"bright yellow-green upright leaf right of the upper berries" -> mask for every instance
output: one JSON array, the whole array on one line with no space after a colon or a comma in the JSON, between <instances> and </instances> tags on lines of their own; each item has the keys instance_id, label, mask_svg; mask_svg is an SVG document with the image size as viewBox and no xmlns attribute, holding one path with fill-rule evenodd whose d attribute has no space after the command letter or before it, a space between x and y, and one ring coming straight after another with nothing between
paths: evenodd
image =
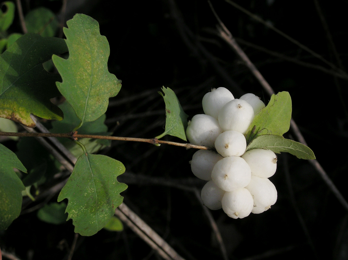
<instances>
[{"instance_id":1,"label":"bright yellow-green upright leaf right of the upper berries","mask_svg":"<svg viewBox=\"0 0 348 260\"><path fill-rule=\"evenodd\" d=\"M255 115L250 124L246 134L247 142L264 134L283 136L290 128L291 110L289 92L273 94L268 105Z\"/></svg>"}]
</instances>

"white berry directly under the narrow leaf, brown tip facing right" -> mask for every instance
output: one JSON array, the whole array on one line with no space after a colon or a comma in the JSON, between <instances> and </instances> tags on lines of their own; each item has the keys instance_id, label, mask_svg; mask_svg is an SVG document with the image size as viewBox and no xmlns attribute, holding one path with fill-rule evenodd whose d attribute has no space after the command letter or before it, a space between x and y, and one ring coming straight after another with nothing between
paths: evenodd
<instances>
[{"instance_id":1,"label":"white berry directly under the narrow leaf, brown tip facing right","mask_svg":"<svg viewBox=\"0 0 348 260\"><path fill-rule=\"evenodd\" d=\"M277 156L271 150L249 150L242 155L242 158L250 166L252 175L269 178L276 172Z\"/></svg>"}]
</instances>

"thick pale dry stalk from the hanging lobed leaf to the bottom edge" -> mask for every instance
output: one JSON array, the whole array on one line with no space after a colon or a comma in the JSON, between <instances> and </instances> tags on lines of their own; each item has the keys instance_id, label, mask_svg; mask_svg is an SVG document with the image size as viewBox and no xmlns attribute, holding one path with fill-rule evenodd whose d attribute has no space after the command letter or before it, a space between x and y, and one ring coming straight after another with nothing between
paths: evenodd
<instances>
[{"instance_id":1,"label":"thick pale dry stalk from the hanging lobed leaf to the bottom edge","mask_svg":"<svg viewBox=\"0 0 348 260\"><path fill-rule=\"evenodd\" d=\"M115 215L124 221L136 234L147 242L161 257L167 260L184 260L166 241L163 240L139 216L122 203L115 210Z\"/></svg>"}]
</instances>

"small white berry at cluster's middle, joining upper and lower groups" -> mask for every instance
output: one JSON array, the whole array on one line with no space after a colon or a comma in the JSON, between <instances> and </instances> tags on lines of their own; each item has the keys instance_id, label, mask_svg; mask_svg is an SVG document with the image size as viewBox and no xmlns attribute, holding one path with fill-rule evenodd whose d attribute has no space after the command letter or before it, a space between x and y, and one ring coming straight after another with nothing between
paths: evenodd
<instances>
[{"instance_id":1,"label":"small white berry at cluster's middle, joining upper and lower groups","mask_svg":"<svg viewBox=\"0 0 348 260\"><path fill-rule=\"evenodd\" d=\"M215 149L223 157L241 156L246 149L245 136L237 131L228 130L216 137Z\"/></svg>"}]
</instances>

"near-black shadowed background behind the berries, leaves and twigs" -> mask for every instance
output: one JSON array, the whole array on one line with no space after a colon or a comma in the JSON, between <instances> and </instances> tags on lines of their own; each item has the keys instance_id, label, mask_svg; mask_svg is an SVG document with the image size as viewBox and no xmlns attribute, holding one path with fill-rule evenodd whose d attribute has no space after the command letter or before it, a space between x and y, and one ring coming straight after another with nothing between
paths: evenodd
<instances>
[{"instance_id":1,"label":"near-black shadowed background behind the berries, leaves and twigs","mask_svg":"<svg viewBox=\"0 0 348 260\"><path fill-rule=\"evenodd\" d=\"M337 67L347 62L347 1L236 1L248 11L306 45ZM277 93L288 91L293 119L329 177L347 194L347 79L298 64L331 68L225 1L212 1L222 22ZM23 1L60 15L61 1ZM73 7L73 5L75 5ZM163 132L165 107L157 91L170 87L189 119L202 114L201 100L211 88L226 87L235 98L269 95L235 52L217 35L217 20L207 1L68 1L67 19L84 13L100 24L110 44L109 71L122 80L110 99L106 124L116 136L152 138ZM319 18L325 18L339 60ZM18 21L18 17L15 18ZM19 23L10 28L20 31ZM276 56L273 53L276 53ZM294 59L297 63L280 56ZM118 123L119 124L118 124ZM284 135L296 140L290 130ZM165 136L164 140L179 139ZM298 140L296 140L298 141ZM189 160L195 150L133 142L113 142L101 153L126 167L118 180L128 184L124 202L187 259L223 259L205 211L197 199L204 181ZM229 259L347 259L347 210L314 167L282 153L271 181L278 191L272 208L244 219L210 211ZM55 196L51 201L56 201ZM74 233L71 220L54 226L36 212L21 215L0 246L21 259L66 259ZM101 230L79 237L73 259L159 259L132 230Z\"/></svg>"}]
</instances>

